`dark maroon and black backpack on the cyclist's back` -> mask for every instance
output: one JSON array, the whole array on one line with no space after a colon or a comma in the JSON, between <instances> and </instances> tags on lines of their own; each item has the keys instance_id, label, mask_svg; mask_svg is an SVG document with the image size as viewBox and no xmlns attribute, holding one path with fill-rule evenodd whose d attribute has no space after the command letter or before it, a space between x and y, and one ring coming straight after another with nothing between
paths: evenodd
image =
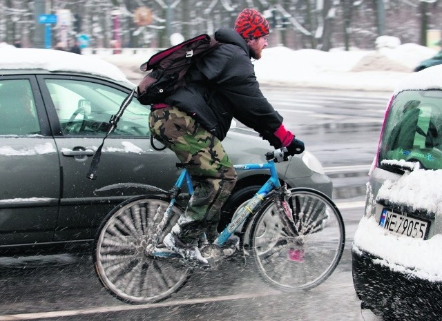
<instances>
[{"instance_id":1,"label":"dark maroon and black backpack on the cyclist's back","mask_svg":"<svg viewBox=\"0 0 442 321\"><path fill-rule=\"evenodd\" d=\"M209 35L199 35L169 49L157 52L140 66L152 70L137 86L137 99L143 105L157 104L186 85L184 75L189 68L220 43Z\"/></svg>"}]
</instances>

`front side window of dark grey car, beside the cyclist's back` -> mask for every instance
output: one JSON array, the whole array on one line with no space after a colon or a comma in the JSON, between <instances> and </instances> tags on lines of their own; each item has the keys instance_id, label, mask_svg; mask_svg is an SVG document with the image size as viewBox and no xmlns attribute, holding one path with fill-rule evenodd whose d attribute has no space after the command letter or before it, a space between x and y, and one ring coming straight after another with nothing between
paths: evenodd
<instances>
[{"instance_id":1,"label":"front side window of dark grey car, beside the cyclist's back","mask_svg":"<svg viewBox=\"0 0 442 321\"><path fill-rule=\"evenodd\" d=\"M64 135L104 135L127 94L90 81L46 79ZM149 109L133 99L111 135L149 135Z\"/></svg>"}]
</instances>

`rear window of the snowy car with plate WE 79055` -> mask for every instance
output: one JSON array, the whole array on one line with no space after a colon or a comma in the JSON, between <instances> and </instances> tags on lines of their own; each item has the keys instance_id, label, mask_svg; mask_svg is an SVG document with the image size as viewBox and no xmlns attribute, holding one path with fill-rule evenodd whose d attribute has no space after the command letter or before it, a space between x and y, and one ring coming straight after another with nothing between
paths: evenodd
<instances>
[{"instance_id":1,"label":"rear window of the snowy car with plate WE 79055","mask_svg":"<svg viewBox=\"0 0 442 321\"><path fill-rule=\"evenodd\" d=\"M404 160L419 162L426 169L441 169L441 131L442 90L399 93L385 121L378 166L383 168L383 160Z\"/></svg>"}]
</instances>

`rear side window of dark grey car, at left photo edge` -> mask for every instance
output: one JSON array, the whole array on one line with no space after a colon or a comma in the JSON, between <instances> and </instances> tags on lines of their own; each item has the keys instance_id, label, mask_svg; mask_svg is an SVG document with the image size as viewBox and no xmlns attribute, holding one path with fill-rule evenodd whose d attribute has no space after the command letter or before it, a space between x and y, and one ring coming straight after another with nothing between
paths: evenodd
<instances>
[{"instance_id":1,"label":"rear side window of dark grey car, at left photo edge","mask_svg":"<svg viewBox=\"0 0 442 321\"><path fill-rule=\"evenodd\" d=\"M0 135L41 133L30 82L0 80Z\"/></svg>"}]
</instances>

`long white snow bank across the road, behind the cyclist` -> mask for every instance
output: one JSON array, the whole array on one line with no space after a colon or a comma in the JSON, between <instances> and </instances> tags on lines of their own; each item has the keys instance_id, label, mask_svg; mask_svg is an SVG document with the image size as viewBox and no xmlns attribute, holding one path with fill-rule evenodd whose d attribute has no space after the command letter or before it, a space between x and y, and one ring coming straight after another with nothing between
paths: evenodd
<instances>
[{"instance_id":1,"label":"long white snow bank across the road, behind the cyclist","mask_svg":"<svg viewBox=\"0 0 442 321\"><path fill-rule=\"evenodd\" d=\"M390 39L387 40L387 43L392 43ZM92 50L84 50L85 55L75 55L59 50L26 49L35 50L32 59L29 59L29 55L25 57L21 49L13 46L0 46L0 50L0 68L6 64L15 64L17 68L86 71L115 80L124 81L127 78L135 84L145 75L140 70L140 65L157 52L157 49L126 48L124 53L117 55L93 55ZM334 48L329 52L313 49L291 50L277 46L263 50L262 59L253 61L253 64L261 84L393 91L412 73L420 61L435 54L436 50L414 43L383 45L377 50L352 48L345 51L343 48ZM50 64L43 64L42 59L39 59L41 55L53 55Z\"/></svg>"}]
</instances>

